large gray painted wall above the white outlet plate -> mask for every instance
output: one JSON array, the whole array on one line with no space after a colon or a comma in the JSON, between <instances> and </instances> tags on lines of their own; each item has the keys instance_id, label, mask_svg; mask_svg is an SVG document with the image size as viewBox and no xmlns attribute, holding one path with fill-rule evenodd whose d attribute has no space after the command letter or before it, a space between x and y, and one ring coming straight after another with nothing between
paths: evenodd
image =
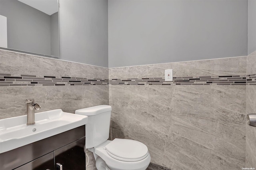
<instances>
[{"instance_id":1,"label":"large gray painted wall above the white outlet plate","mask_svg":"<svg viewBox=\"0 0 256 170\"><path fill-rule=\"evenodd\" d=\"M247 55L245 0L109 0L109 67Z\"/></svg>"}]
</instances>

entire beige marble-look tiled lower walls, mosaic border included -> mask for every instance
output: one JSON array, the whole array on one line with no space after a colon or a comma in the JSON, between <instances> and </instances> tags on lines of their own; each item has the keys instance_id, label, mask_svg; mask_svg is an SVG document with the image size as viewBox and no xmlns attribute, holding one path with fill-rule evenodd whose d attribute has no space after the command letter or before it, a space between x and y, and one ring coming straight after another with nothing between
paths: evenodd
<instances>
[{"instance_id":1,"label":"entire beige marble-look tiled lower walls, mosaic border included","mask_svg":"<svg viewBox=\"0 0 256 170\"><path fill-rule=\"evenodd\" d=\"M25 115L27 98L40 112L109 104L110 139L143 142L151 165L256 167L256 130L245 125L256 113L255 54L108 69L0 50L0 119ZM164 82L164 69L173 69L173 82Z\"/></svg>"}]
</instances>

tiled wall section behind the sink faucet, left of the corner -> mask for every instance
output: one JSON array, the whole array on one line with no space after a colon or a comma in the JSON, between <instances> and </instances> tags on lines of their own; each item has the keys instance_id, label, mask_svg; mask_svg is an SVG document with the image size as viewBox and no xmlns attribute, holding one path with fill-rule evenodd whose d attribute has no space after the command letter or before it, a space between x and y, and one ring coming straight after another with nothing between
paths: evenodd
<instances>
[{"instance_id":1,"label":"tiled wall section behind the sink faucet, left of the corner","mask_svg":"<svg viewBox=\"0 0 256 170\"><path fill-rule=\"evenodd\" d=\"M37 112L108 105L108 68L0 50L0 119L26 114L28 98Z\"/></svg>"}]
</instances>

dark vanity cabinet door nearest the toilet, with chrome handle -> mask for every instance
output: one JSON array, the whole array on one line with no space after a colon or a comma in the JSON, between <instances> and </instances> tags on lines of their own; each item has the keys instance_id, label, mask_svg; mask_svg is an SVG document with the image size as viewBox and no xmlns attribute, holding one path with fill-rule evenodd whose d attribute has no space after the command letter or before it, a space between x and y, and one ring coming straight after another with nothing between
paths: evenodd
<instances>
[{"instance_id":1,"label":"dark vanity cabinet door nearest the toilet, with chrome handle","mask_svg":"<svg viewBox=\"0 0 256 170\"><path fill-rule=\"evenodd\" d=\"M55 169L60 169L58 163L62 170L85 170L84 146L85 137L55 150Z\"/></svg>"}]
</instances>

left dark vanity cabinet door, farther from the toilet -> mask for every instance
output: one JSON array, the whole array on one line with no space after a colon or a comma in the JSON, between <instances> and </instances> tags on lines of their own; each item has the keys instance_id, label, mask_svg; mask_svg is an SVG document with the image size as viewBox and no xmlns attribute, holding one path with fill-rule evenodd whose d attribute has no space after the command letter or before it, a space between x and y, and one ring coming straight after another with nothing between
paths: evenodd
<instances>
[{"instance_id":1,"label":"left dark vanity cabinet door, farther from the toilet","mask_svg":"<svg viewBox=\"0 0 256 170\"><path fill-rule=\"evenodd\" d=\"M54 152L28 162L15 170L54 170Z\"/></svg>"}]
</instances>

